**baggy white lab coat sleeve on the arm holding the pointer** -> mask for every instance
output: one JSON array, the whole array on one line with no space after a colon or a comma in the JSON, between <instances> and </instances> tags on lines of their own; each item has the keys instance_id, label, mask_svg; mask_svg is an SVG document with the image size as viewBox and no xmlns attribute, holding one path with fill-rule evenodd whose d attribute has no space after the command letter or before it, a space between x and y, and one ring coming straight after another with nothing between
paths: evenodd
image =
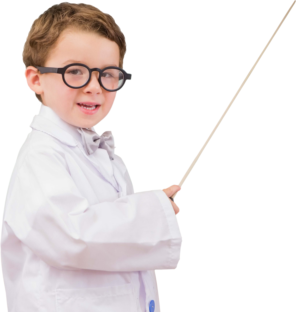
<instances>
[{"instance_id":1,"label":"baggy white lab coat sleeve on the arm holding the pointer","mask_svg":"<svg viewBox=\"0 0 296 312\"><path fill-rule=\"evenodd\" d=\"M182 234L161 189L89 205L66 154L30 149L10 186L4 222L50 266L63 270L175 270Z\"/></svg>"}]
</instances>

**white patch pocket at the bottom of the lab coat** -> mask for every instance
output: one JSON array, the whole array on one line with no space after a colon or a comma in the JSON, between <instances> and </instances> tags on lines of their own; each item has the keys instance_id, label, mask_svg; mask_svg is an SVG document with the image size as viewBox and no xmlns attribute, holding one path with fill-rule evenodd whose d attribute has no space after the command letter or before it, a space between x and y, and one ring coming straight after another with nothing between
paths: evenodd
<instances>
[{"instance_id":1,"label":"white patch pocket at the bottom of the lab coat","mask_svg":"<svg viewBox=\"0 0 296 312\"><path fill-rule=\"evenodd\" d=\"M137 312L132 284L56 289L57 312Z\"/></svg>"}]
</instances>

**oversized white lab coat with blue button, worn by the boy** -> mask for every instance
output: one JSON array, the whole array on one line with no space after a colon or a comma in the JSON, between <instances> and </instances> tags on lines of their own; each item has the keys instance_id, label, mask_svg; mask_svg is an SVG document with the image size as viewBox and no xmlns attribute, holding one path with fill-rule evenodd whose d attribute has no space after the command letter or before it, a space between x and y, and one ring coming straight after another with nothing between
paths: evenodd
<instances>
[{"instance_id":1,"label":"oversized white lab coat with blue button, worn by the boy","mask_svg":"<svg viewBox=\"0 0 296 312\"><path fill-rule=\"evenodd\" d=\"M160 312L154 270L175 270L182 247L167 195L135 193L123 159L88 156L50 107L29 127L2 213L7 311Z\"/></svg>"}]
</instances>

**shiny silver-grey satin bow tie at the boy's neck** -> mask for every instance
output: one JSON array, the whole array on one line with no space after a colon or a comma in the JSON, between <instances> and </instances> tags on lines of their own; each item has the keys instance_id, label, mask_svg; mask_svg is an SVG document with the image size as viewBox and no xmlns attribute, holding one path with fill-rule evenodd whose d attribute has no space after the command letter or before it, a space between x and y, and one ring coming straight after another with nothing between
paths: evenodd
<instances>
[{"instance_id":1,"label":"shiny silver-grey satin bow tie at the boy's neck","mask_svg":"<svg viewBox=\"0 0 296 312\"><path fill-rule=\"evenodd\" d=\"M107 151L110 158L114 159L117 146L115 146L112 130L106 130L101 135L86 128L77 128L77 130L81 134L86 154L93 154L100 147Z\"/></svg>"}]
</instances>

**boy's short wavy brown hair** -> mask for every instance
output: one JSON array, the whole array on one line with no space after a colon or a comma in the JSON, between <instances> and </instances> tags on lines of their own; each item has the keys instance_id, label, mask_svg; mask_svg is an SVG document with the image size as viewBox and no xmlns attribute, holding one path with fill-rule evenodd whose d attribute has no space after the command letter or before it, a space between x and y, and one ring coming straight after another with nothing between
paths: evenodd
<instances>
[{"instance_id":1,"label":"boy's short wavy brown hair","mask_svg":"<svg viewBox=\"0 0 296 312\"><path fill-rule=\"evenodd\" d=\"M114 17L92 4L63 1L46 9L32 22L22 49L25 69L28 66L44 67L57 46L61 32L65 30L96 33L116 42L119 46L119 67L124 68L126 37ZM37 72L40 74L39 70ZM35 92L34 95L41 103L41 96Z\"/></svg>"}]
</instances>

